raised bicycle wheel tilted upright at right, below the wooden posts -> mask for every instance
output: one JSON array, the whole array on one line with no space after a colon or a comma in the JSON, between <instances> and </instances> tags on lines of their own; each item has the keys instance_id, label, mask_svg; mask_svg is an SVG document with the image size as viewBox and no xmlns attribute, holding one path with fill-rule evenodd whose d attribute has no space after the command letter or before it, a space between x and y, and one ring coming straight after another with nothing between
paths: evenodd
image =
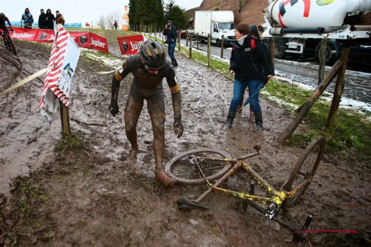
<instances>
[{"instance_id":1,"label":"raised bicycle wheel tilted upright at right, below the wooden posts","mask_svg":"<svg viewBox=\"0 0 371 247\"><path fill-rule=\"evenodd\" d=\"M300 199L300 197L304 195L304 192L307 190L309 184L312 182L318 165L320 165L324 151L325 137L319 135L308 145L304 153L300 156L289 178L282 185L282 188L286 191L293 192L297 190L291 197L286 198L283 201L283 210L288 210L289 208L291 208ZM305 165L308 160L310 160L309 164ZM304 180L300 178L300 176L304 176ZM293 186L294 182L295 185ZM304 186L298 189L303 184ZM294 187L295 189L292 189L292 187Z\"/></svg>"}]
</instances>

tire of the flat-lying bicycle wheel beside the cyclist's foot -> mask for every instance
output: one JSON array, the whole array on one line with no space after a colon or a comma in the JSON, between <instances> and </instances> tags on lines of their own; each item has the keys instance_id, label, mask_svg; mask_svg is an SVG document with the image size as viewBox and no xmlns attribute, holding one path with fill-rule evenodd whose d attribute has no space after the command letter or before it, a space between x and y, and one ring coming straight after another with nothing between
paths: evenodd
<instances>
[{"instance_id":1,"label":"tire of the flat-lying bicycle wheel beside the cyclist's foot","mask_svg":"<svg viewBox=\"0 0 371 247\"><path fill-rule=\"evenodd\" d=\"M171 166L174 165L174 163L180 159L182 159L183 157L187 156L187 155L190 155L190 154L195 154L195 153L205 153L205 152L209 152L209 153L215 153L215 154L219 154L219 155L222 155L225 159L231 159L232 157L227 153L227 152L224 152L222 150L217 150L217 149L194 149L194 150L191 150L191 151L187 151L187 152L184 152L178 156L175 156L173 159L171 159L170 161L168 161L165 165L165 173L170 176L171 178L175 179L177 181L177 183L179 184L186 184L186 185L195 185L195 184L204 184L206 183L205 179L204 178L199 178L199 179L183 179L183 178L179 178L177 176L175 176L174 174L171 173ZM232 168L233 164L232 163L228 163L228 165L226 165L223 169L221 169L220 171L218 171L217 173L211 175L211 176L208 176L206 177L207 180L209 181L214 181L216 179L219 179L221 178L222 176L224 176L224 174L226 174L231 168Z\"/></svg>"}]
</instances>

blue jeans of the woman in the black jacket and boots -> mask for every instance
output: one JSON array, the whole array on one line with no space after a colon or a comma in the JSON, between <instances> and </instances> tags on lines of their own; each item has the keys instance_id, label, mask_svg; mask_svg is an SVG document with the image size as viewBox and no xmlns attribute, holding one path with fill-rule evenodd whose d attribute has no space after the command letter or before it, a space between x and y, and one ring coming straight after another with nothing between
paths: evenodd
<instances>
[{"instance_id":1,"label":"blue jeans of the woman in the black jacket and boots","mask_svg":"<svg viewBox=\"0 0 371 247\"><path fill-rule=\"evenodd\" d=\"M237 110L237 107L243 98L243 94L246 90L246 87L249 88L249 97L253 94L258 85L261 83L261 80L234 80L234 87L233 87L233 98L231 102L230 108L233 111ZM261 112L262 109L259 105L259 93L255 95L250 101L250 109L254 112Z\"/></svg>"}]
</instances>

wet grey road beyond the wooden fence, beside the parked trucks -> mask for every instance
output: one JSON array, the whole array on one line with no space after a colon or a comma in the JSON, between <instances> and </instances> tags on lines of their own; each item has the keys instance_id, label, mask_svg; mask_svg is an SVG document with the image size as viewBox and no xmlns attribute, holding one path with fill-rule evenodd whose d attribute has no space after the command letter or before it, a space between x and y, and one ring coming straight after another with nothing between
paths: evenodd
<instances>
[{"instance_id":1,"label":"wet grey road beyond the wooden fence, beside the parked trucks","mask_svg":"<svg viewBox=\"0 0 371 247\"><path fill-rule=\"evenodd\" d=\"M186 41L182 40L182 44L186 44ZM197 48L197 44L194 44L193 48ZM198 48L200 50L207 51L207 43L199 43ZM221 48L211 46L211 54L220 57L220 51ZM231 47L224 48L223 57L225 59L230 59L231 52ZM357 67L353 66L350 68ZM291 62L290 60L275 59L276 75L314 87L317 87L318 85L318 70L319 65L315 62ZM329 73L330 70L331 67L326 66L325 74ZM343 95L350 99L371 103L370 77L371 73L358 72L348 69L345 74L345 86ZM335 82L336 79L334 79L333 83L329 84L327 89L328 92L333 93Z\"/></svg>"}]
</instances>

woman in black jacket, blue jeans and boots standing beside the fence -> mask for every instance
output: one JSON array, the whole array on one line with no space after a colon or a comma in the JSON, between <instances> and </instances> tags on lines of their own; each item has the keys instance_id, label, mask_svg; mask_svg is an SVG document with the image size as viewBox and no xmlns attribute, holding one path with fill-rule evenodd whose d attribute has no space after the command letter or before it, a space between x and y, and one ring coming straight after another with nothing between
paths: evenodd
<instances>
[{"instance_id":1,"label":"woman in black jacket, blue jeans and boots standing beside the fence","mask_svg":"<svg viewBox=\"0 0 371 247\"><path fill-rule=\"evenodd\" d=\"M234 73L233 98L227 117L227 127L231 128L238 104L243 97L246 87L249 96L263 82L267 83L272 77L267 52L257 38L250 36L250 27L240 23L236 27L236 41L233 42L230 74ZM255 132L263 130L262 109L259 105L259 94L252 97L250 108L255 115Z\"/></svg>"}]
</instances>

